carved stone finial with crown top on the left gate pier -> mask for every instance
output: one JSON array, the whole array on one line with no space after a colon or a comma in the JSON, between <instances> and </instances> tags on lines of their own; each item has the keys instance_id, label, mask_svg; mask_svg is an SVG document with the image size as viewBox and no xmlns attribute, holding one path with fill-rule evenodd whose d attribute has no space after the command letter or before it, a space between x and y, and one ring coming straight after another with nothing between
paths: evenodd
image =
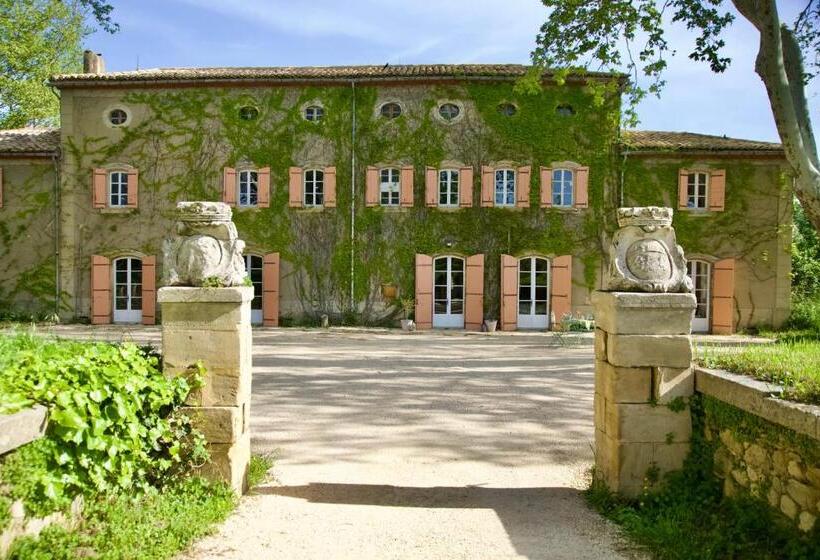
<instances>
[{"instance_id":1,"label":"carved stone finial with crown top on the left gate pier","mask_svg":"<svg viewBox=\"0 0 820 560\"><path fill-rule=\"evenodd\" d=\"M176 235L165 240L166 286L220 286L245 282L245 242L231 221L231 207L222 202L177 203Z\"/></svg>"}]
</instances>

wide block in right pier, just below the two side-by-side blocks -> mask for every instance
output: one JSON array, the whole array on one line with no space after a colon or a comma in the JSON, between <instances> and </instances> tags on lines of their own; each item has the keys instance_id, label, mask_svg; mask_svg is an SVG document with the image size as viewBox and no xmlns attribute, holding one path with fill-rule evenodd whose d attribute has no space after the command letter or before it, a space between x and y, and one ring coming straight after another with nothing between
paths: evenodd
<instances>
[{"instance_id":1,"label":"wide block in right pier, just below the two side-by-side blocks","mask_svg":"<svg viewBox=\"0 0 820 560\"><path fill-rule=\"evenodd\" d=\"M621 442L686 443L692 437L688 407L674 412L665 406L607 401L605 414L606 434Z\"/></svg>"}]
</instances>

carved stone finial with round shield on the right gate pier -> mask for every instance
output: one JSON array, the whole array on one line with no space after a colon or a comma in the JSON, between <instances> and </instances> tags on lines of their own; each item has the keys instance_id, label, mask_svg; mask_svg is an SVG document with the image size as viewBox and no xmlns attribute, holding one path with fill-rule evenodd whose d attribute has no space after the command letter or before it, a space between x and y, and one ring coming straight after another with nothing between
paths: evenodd
<instances>
[{"instance_id":1,"label":"carved stone finial with round shield on the right gate pier","mask_svg":"<svg viewBox=\"0 0 820 560\"><path fill-rule=\"evenodd\" d=\"M671 208L619 208L618 225L609 250L607 291L692 291L683 249L672 227Z\"/></svg>"}]
</instances>

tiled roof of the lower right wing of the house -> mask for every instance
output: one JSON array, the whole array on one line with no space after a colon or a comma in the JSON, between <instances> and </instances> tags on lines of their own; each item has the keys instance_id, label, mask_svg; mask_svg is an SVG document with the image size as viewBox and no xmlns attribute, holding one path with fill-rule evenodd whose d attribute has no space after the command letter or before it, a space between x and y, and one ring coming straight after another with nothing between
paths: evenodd
<instances>
[{"instance_id":1,"label":"tiled roof of the lower right wing of the house","mask_svg":"<svg viewBox=\"0 0 820 560\"><path fill-rule=\"evenodd\" d=\"M656 152L782 152L774 142L741 140L693 132L624 130L621 143L630 150Z\"/></svg>"}]
</instances>

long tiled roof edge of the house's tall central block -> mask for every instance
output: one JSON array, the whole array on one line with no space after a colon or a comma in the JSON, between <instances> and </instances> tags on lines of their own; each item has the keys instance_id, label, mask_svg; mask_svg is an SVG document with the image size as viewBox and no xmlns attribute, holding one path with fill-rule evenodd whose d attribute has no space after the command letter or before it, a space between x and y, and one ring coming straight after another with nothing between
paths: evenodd
<instances>
[{"instance_id":1,"label":"long tiled roof edge of the house's tall central block","mask_svg":"<svg viewBox=\"0 0 820 560\"><path fill-rule=\"evenodd\" d=\"M192 81L345 81L424 78L517 78L523 64L390 64L373 66L281 66L237 68L150 68L102 74L59 74L54 85L72 83L192 82ZM545 76L550 76L545 72ZM584 77L618 78L620 74L589 72Z\"/></svg>"}]
</instances>

